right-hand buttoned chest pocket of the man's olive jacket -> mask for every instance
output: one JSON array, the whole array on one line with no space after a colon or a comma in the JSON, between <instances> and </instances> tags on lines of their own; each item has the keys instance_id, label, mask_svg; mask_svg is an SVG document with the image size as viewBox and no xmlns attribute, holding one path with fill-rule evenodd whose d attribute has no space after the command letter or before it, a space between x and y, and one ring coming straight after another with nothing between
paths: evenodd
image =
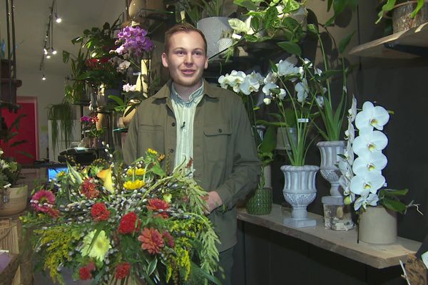
<instances>
[{"instance_id":1,"label":"right-hand buttoned chest pocket of the man's olive jacket","mask_svg":"<svg viewBox=\"0 0 428 285\"><path fill-rule=\"evenodd\" d=\"M210 161L225 161L232 130L228 123L205 125L205 154Z\"/></svg>"}]
</instances>

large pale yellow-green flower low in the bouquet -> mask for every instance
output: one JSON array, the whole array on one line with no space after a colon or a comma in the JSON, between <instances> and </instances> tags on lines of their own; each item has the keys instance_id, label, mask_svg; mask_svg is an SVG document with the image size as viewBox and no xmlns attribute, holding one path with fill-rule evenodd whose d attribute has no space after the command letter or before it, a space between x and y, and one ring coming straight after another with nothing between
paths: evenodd
<instances>
[{"instance_id":1,"label":"large pale yellow-green flower low in the bouquet","mask_svg":"<svg viewBox=\"0 0 428 285\"><path fill-rule=\"evenodd\" d=\"M106 237L106 232L101 231L93 241L95 233L96 230L93 230L83 239L81 254L83 257L89 256L98 259L98 261L103 261L108 249L111 249L110 239Z\"/></svg>"}]
</instances>

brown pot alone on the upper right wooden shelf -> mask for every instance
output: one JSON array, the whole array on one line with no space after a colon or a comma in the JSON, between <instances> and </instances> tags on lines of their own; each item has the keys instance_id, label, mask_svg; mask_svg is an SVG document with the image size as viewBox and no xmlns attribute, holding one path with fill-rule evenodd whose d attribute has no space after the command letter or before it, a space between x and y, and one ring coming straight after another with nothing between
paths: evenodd
<instances>
[{"instance_id":1,"label":"brown pot alone on the upper right wooden shelf","mask_svg":"<svg viewBox=\"0 0 428 285\"><path fill-rule=\"evenodd\" d=\"M427 2L427 1L425 1ZM392 10L392 31L398 33L417 27L428 21L428 3L412 18L410 15L417 6L417 1L407 1L394 6Z\"/></svg>"}]
</instances>

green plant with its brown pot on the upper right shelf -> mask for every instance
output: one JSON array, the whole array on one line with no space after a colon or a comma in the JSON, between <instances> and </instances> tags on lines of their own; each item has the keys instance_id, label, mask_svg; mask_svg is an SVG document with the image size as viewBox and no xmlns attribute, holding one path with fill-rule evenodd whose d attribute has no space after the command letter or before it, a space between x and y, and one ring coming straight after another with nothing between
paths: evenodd
<instances>
[{"instance_id":1,"label":"green plant with its brown pot on the upper right shelf","mask_svg":"<svg viewBox=\"0 0 428 285\"><path fill-rule=\"evenodd\" d=\"M392 11L392 32L406 31L428 21L425 0L387 0L379 11L376 24Z\"/></svg>"}]
</instances>

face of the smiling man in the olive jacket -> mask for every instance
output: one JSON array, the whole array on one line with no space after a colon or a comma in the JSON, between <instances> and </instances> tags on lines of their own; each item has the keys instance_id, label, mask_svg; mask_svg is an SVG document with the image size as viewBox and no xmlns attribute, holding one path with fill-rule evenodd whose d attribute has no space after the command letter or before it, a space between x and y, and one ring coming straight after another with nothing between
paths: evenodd
<instances>
[{"instance_id":1,"label":"face of the smiling man in the olive jacket","mask_svg":"<svg viewBox=\"0 0 428 285\"><path fill-rule=\"evenodd\" d=\"M202 36L195 31L174 33L168 53L162 53L162 64L168 68L176 87L199 86L203 70L208 67Z\"/></svg>"}]
</instances>

